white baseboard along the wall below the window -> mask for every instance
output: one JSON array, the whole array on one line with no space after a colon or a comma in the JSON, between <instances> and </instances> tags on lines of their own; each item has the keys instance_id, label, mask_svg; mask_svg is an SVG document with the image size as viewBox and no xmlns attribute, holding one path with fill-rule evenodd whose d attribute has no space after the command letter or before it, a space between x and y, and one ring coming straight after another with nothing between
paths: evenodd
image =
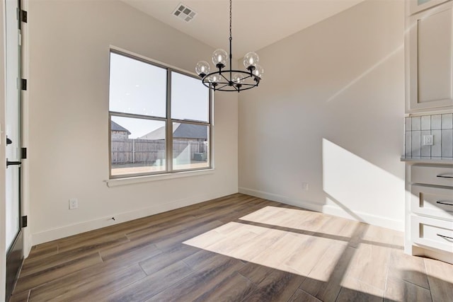
<instances>
[{"instance_id":1,"label":"white baseboard along the wall below the window","mask_svg":"<svg viewBox=\"0 0 453 302\"><path fill-rule=\"evenodd\" d=\"M32 234L31 242L33 243L33 245L38 245L40 243L46 243L46 242L56 240L59 238L64 238L64 237L73 236L73 235L76 235L79 233L93 231L98 228L104 228L105 226L113 226L117 223L131 221L134 219L139 219L139 218L151 216L154 214L159 214L164 211L171 211L173 209L178 209L181 207L187 207L192 204L205 202L210 199L215 199L218 197L222 197L222 196L226 196L226 195L234 194L234 193L236 193L236 192L218 192L217 194L198 195L196 197L180 199L180 200L176 200L174 202L166 202L165 204L158 204L153 207L148 207L145 209L138 209L138 210L130 211L127 213L105 216L105 217L102 217L99 219L94 219L91 221L84 221L81 223L71 224L69 226L62 226L61 228L54 228L51 230ZM112 217L115 217L115 221L112 219Z\"/></svg>"}]
</instances>

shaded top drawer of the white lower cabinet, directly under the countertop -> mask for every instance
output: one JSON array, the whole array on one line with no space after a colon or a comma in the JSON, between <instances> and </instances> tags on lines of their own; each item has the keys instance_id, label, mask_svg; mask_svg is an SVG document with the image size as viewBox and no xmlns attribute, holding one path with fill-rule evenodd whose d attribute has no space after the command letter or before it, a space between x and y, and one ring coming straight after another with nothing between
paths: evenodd
<instances>
[{"instance_id":1,"label":"shaded top drawer of the white lower cabinet, directly under the countertop","mask_svg":"<svg viewBox=\"0 0 453 302\"><path fill-rule=\"evenodd\" d=\"M411 182L453 187L453 166L413 165Z\"/></svg>"}]
</instances>

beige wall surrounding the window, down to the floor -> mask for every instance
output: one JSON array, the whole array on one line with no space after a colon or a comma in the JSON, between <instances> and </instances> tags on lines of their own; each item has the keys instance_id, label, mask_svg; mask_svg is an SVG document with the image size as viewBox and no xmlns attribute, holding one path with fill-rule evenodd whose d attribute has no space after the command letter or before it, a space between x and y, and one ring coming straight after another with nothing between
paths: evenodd
<instances>
[{"instance_id":1,"label":"beige wall surrounding the window, down to the floor","mask_svg":"<svg viewBox=\"0 0 453 302\"><path fill-rule=\"evenodd\" d=\"M109 45L193 71L212 48L120 1L30 1L33 244L237 192L237 95L216 95L215 170L107 187ZM201 85L201 83L200 83ZM79 209L68 209L69 198Z\"/></svg>"}]
</instances>

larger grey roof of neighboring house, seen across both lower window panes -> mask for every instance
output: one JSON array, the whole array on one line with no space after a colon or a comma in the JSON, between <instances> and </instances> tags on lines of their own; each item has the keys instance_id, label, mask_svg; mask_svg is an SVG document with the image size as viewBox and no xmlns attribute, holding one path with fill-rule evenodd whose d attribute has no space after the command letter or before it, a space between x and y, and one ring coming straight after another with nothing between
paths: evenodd
<instances>
[{"instance_id":1,"label":"larger grey roof of neighboring house, seen across both lower window panes","mask_svg":"<svg viewBox=\"0 0 453 302\"><path fill-rule=\"evenodd\" d=\"M173 124L175 139L207 139L207 127L200 124ZM165 127L160 127L140 139L165 139Z\"/></svg>"}]
</instances>

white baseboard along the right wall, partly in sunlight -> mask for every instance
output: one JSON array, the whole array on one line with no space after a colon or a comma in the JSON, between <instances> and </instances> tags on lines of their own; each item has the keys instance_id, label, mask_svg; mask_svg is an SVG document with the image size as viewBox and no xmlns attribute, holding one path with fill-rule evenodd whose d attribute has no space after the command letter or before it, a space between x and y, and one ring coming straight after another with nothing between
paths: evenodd
<instances>
[{"instance_id":1,"label":"white baseboard along the right wall, partly in sunlight","mask_svg":"<svg viewBox=\"0 0 453 302\"><path fill-rule=\"evenodd\" d=\"M361 221L368 224L372 224L373 226L382 226L384 228L391 228L396 231L404 231L404 221L388 219L386 217L376 216L361 211L354 211L353 209L349 210L353 211L355 216L350 215L347 211L341 209L340 207L336 207L330 204L316 204L304 200L293 199L279 194L248 189L246 187L239 187L239 193L272 200L274 202L282 202L283 204L289 204L294 207L301 207L304 209L309 209L311 211L319 211L321 213L333 216L339 216L347 219L352 219L355 221Z\"/></svg>"}]
</instances>

